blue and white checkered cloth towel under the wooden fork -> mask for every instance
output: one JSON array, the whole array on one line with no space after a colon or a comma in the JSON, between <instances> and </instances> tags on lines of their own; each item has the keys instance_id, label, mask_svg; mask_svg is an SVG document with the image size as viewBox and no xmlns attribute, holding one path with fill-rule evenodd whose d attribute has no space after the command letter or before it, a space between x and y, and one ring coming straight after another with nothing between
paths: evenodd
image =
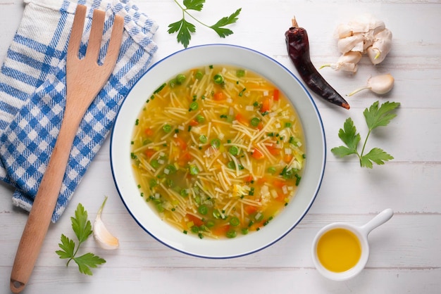
<instances>
[{"instance_id":1,"label":"blue and white checkered cloth towel under the wooden fork","mask_svg":"<svg viewBox=\"0 0 441 294\"><path fill-rule=\"evenodd\" d=\"M25 0L26 6L0 72L0 179L15 186L13 204L29 211L58 135L66 104L66 51L76 0ZM92 8L106 11L104 40L114 15L125 32L120 56L108 82L80 124L52 222L68 205L87 167L111 129L123 98L146 72L156 52L153 20L130 0L78 1L89 7L84 56ZM103 56L101 56L103 57Z\"/></svg>"}]
</instances>

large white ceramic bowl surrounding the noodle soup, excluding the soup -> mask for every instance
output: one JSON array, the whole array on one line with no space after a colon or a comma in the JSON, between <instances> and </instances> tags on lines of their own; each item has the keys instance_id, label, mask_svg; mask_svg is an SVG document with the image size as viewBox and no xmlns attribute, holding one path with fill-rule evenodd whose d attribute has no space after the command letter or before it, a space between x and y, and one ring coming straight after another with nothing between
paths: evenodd
<instances>
[{"instance_id":1,"label":"large white ceramic bowl surrounding the noodle soup, excluding the soup","mask_svg":"<svg viewBox=\"0 0 441 294\"><path fill-rule=\"evenodd\" d=\"M143 198L139 197L130 162L132 127L146 98L159 85L179 72L211 64L237 65L271 80L291 99L302 120L306 141L306 166L290 205L260 231L221 240L185 235L163 222ZM311 95L299 79L280 63L262 53L221 44L195 46L178 51L153 65L123 101L111 135L113 179L130 215L161 243L198 257L229 258L248 255L266 248L288 234L306 215L316 198L325 169L325 155L325 134L321 117Z\"/></svg>"}]
</instances>

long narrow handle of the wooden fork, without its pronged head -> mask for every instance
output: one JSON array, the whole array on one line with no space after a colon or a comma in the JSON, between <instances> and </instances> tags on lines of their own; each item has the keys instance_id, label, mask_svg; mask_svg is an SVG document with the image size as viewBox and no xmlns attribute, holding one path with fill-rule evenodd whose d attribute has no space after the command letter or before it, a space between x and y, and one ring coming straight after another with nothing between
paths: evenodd
<instances>
[{"instance_id":1,"label":"long narrow handle of the wooden fork, without its pronged head","mask_svg":"<svg viewBox=\"0 0 441 294\"><path fill-rule=\"evenodd\" d=\"M66 113L66 115L68 114ZM49 229L52 213L61 190L70 149L80 124L80 119L77 116L82 117L81 113L75 113L75 117L66 117L66 115L63 117L54 151L46 167L46 172L44 172L23 235L18 244L11 272L10 287L13 293L20 293L29 281L39 251L42 248L44 237Z\"/></svg>"}]
</instances>

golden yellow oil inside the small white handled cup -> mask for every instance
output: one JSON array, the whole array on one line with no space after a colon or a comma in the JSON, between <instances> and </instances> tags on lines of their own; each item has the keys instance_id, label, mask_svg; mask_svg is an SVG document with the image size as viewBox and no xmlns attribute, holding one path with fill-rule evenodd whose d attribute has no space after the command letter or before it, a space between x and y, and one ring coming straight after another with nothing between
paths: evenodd
<instances>
[{"instance_id":1,"label":"golden yellow oil inside the small white handled cup","mask_svg":"<svg viewBox=\"0 0 441 294\"><path fill-rule=\"evenodd\" d=\"M347 229L331 229L318 240L317 256L323 267L329 271L352 269L361 257L359 238Z\"/></svg>"}]
</instances>

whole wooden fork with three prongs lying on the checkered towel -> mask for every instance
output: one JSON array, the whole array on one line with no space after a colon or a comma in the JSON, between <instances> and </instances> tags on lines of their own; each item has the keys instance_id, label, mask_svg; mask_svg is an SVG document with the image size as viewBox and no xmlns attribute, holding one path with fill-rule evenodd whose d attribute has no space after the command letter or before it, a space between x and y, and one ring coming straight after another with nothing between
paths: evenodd
<instances>
[{"instance_id":1,"label":"whole wooden fork with three prongs lying on the checkered towel","mask_svg":"<svg viewBox=\"0 0 441 294\"><path fill-rule=\"evenodd\" d=\"M95 10L85 58L81 60L78 58L85 15L86 6L78 5L70 33L66 61L66 110L54 151L44 172L15 255L10 284L13 293L20 293L29 281L49 229L73 139L87 108L111 75L120 52L124 20L116 16L104 64L98 65L105 13Z\"/></svg>"}]
</instances>

